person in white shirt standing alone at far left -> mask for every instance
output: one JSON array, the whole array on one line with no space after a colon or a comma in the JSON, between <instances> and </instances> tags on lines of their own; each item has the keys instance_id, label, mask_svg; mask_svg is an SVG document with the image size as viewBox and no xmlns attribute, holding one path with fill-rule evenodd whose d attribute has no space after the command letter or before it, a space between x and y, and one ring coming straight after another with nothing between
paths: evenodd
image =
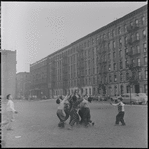
<instances>
[{"instance_id":1,"label":"person in white shirt standing alone at far left","mask_svg":"<svg viewBox=\"0 0 149 149\"><path fill-rule=\"evenodd\" d=\"M7 121L8 121L8 125L7 125L7 130L12 130L12 122L14 121L14 113L18 113L15 109L14 109L14 102L13 97L11 94L7 95L7 105L6 105L6 111L7 111Z\"/></svg>"}]
</instances>

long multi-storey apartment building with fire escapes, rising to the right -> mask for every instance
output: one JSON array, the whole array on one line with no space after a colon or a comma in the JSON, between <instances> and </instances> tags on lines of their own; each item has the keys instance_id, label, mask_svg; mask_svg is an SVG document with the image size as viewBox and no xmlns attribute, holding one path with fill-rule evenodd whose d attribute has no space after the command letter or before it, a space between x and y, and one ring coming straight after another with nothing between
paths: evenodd
<instances>
[{"instance_id":1,"label":"long multi-storey apartment building with fire escapes, rising to the right","mask_svg":"<svg viewBox=\"0 0 149 149\"><path fill-rule=\"evenodd\" d=\"M49 98L77 88L88 95L148 93L147 5L46 59Z\"/></svg>"}]
</instances>

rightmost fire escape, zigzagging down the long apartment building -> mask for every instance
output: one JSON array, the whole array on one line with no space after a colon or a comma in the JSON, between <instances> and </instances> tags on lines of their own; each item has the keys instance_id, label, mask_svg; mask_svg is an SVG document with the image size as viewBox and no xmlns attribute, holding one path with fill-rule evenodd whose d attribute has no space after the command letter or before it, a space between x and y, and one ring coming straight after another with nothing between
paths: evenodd
<instances>
[{"instance_id":1,"label":"rightmost fire escape, zigzagging down the long apartment building","mask_svg":"<svg viewBox=\"0 0 149 149\"><path fill-rule=\"evenodd\" d=\"M135 48L132 50L131 47L134 47L137 43L140 42L140 38L134 36L132 39L132 35L136 33L136 31L139 29L139 26L129 26L127 31L130 35L130 38L128 39L128 52L126 53L126 57L129 59L129 64L127 65L128 69L131 71L131 76L129 77L129 86L132 87L135 86L135 92L139 92L139 81L141 81L142 77L139 78L139 72L141 72L141 64L137 64L133 60L136 60L136 57L139 57L141 55L140 51L137 51ZM141 62L140 62L141 63Z\"/></svg>"}]
</instances>

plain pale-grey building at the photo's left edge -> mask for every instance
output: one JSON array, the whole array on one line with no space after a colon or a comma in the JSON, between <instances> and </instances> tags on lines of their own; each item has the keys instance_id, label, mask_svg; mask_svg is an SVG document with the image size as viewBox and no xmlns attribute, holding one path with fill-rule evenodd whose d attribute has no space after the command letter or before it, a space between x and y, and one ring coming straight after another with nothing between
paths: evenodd
<instances>
[{"instance_id":1,"label":"plain pale-grey building at the photo's left edge","mask_svg":"<svg viewBox=\"0 0 149 149\"><path fill-rule=\"evenodd\" d=\"M1 50L1 71L2 97L5 98L7 94L16 96L16 51Z\"/></svg>"}]
</instances>

